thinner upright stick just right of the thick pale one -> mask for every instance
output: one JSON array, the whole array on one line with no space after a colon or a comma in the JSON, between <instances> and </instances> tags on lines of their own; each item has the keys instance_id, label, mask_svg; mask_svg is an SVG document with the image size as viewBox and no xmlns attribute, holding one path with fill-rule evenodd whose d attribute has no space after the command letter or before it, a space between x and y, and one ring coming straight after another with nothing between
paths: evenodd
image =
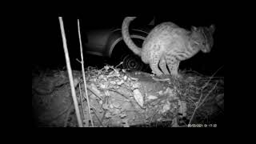
<instances>
[{"instance_id":1,"label":"thinner upright stick just right of the thick pale one","mask_svg":"<svg viewBox=\"0 0 256 144\"><path fill-rule=\"evenodd\" d=\"M86 90L86 99L87 99L87 105L88 105L88 112L89 112L89 117L90 117L90 122L91 125L94 127L94 122L93 119L91 118L91 114L90 114L90 99L88 98L88 94L87 94L87 88L86 88L86 74L85 74L85 68L84 68L84 61L83 61L83 54L82 54L82 42L81 42L81 34L80 34L80 24L79 24L79 19L78 19L78 36L79 36L79 43L80 43L80 53L81 53L81 64L82 64L82 78L83 78L83 82L85 83L85 90Z\"/></svg>"}]
</instances>

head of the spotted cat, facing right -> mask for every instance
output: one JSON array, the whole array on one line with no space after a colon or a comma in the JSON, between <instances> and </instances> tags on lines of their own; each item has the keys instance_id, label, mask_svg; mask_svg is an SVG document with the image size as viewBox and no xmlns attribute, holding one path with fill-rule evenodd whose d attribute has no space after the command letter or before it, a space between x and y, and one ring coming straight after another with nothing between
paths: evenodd
<instances>
[{"instance_id":1,"label":"head of the spotted cat, facing right","mask_svg":"<svg viewBox=\"0 0 256 144\"><path fill-rule=\"evenodd\" d=\"M197 45L202 52L209 53L214 46L214 31L214 25L209 27L191 27L191 37L194 40L194 44Z\"/></svg>"}]
</instances>

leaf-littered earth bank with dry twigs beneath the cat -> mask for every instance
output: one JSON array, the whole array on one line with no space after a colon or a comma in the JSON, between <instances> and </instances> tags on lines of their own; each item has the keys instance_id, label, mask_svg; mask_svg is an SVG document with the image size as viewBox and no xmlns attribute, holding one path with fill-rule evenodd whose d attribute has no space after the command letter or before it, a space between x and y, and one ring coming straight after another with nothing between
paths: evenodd
<instances>
[{"instance_id":1,"label":"leaf-littered earth bank with dry twigs beneath the cat","mask_svg":"<svg viewBox=\"0 0 256 144\"><path fill-rule=\"evenodd\" d=\"M83 125L92 126L82 73L73 71L73 74ZM39 125L78 126L66 71L52 70L38 75L34 78L38 85L32 85L32 106L39 111ZM218 124L224 116L224 78L207 78L188 71L182 75L183 79L178 80L126 72L114 66L101 70L88 67L86 84L94 126Z\"/></svg>"}]
</instances>

